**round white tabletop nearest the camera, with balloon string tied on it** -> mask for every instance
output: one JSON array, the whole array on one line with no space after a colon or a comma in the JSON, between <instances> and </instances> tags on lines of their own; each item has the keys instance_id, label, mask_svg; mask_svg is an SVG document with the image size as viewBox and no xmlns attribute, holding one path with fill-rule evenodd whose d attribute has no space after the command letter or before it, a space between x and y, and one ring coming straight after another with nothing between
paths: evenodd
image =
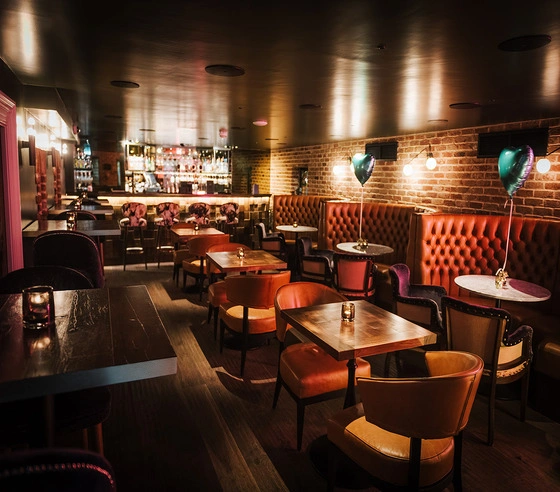
<instances>
[{"instance_id":1,"label":"round white tabletop nearest the camera, with balloon string tied on it","mask_svg":"<svg viewBox=\"0 0 560 492\"><path fill-rule=\"evenodd\" d=\"M461 275L455 278L455 283L470 292L496 299L496 307L501 307L502 301L541 302L550 299L550 291L540 285L508 278L506 284L496 288L495 275Z\"/></svg>"}]
</instances>

